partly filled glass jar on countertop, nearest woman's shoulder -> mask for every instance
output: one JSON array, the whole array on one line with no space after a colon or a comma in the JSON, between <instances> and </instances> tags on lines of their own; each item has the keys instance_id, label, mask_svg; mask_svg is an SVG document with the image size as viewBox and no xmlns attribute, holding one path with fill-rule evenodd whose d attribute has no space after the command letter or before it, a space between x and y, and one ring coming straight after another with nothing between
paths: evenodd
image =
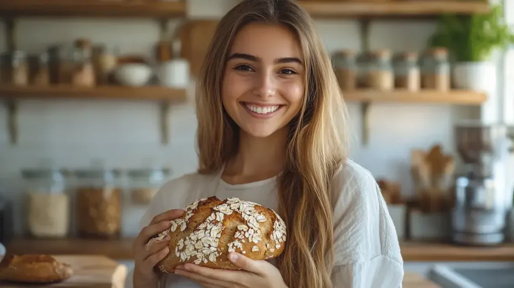
<instances>
[{"instance_id":1,"label":"partly filled glass jar on countertop, nearest woman's shoulder","mask_svg":"<svg viewBox=\"0 0 514 288\"><path fill-rule=\"evenodd\" d=\"M149 204L169 175L167 168L128 170L132 203Z\"/></svg>"}]
</instances>

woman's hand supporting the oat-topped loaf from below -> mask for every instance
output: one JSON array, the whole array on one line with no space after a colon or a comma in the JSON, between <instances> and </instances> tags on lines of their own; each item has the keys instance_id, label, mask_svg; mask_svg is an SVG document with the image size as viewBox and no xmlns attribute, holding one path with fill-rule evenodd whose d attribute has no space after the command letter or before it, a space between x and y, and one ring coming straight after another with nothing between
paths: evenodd
<instances>
[{"instance_id":1,"label":"woman's hand supporting the oat-topped loaf from below","mask_svg":"<svg viewBox=\"0 0 514 288\"><path fill-rule=\"evenodd\" d=\"M287 288L279 270L264 260L251 260L231 252L228 259L242 270L222 270L187 263L175 268L175 274L189 278L205 288Z\"/></svg>"}]
</instances>

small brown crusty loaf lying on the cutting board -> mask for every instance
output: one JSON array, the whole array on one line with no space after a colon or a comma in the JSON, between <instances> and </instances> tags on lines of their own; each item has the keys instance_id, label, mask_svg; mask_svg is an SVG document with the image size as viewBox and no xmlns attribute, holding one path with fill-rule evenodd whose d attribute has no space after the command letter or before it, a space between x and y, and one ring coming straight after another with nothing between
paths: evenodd
<instances>
[{"instance_id":1,"label":"small brown crusty loaf lying on the cutting board","mask_svg":"<svg viewBox=\"0 0 514 288\"><path fill-rule=\"evenodd\" d=\"M12 255L0 263L0 280L24 283L53 283L68 279L71 266L50 255Z\"/></svg>"}]
</instances>

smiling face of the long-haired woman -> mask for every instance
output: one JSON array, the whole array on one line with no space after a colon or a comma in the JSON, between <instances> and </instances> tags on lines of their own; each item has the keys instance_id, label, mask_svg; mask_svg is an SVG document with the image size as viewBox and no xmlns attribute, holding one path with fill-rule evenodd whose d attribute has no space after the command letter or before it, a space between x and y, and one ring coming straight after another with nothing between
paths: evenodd
<instances>
[{"instance_id":1,"label":"smiling face of the long-haired woman","mask_svg":"<svg viewBox=\"0 0 514 288\"><path fill-rule=\"evenodd\" d=\"M281 26L249 24L233 41L222 100L235 123L254 137L268 137L299 112L304 67L295 34Z\"/></svg>"}]
</instances>

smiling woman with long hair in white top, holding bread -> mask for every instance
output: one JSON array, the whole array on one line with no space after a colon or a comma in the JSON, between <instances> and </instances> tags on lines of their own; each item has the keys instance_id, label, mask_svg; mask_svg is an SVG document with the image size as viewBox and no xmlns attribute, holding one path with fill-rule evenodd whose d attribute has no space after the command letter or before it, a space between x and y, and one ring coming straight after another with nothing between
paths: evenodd
<instances>
[{"instance_id":1,"label":"smiling woman with long hair in white top, holding bread","mask_svg":"<svg viewBox=\"0 0 514 288\"><path fill-rule=\"evenodd\" d=\"M342 94L303 9L290 0L238 4L219 23L197 84L198 172L153 199L128 286L401 286L395 228L370 172L346 158ZM241 271L186 264L157 275L167 242L144 243L182 213L169 209L211 195L277 210L288 229L282 255L268 262L232 253Z\"/></svg>"}]
</instances>

